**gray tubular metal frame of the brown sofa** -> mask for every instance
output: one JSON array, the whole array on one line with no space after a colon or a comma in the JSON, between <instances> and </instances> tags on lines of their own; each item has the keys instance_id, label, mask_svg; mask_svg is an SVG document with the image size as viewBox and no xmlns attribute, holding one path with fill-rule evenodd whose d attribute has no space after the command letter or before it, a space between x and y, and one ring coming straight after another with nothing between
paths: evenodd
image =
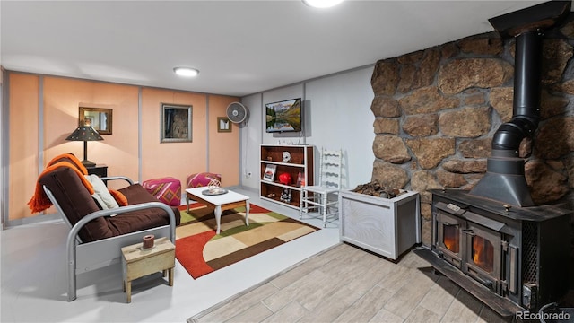
<instances>
[{"instance_id":1,"label":"gray tubular metal frame of the brown sofa","mask_svg":"<svg viewBox=\"0 0 574 323\"><path fill-rule=\"evenodd\" d=\"M123 176L105 177L102 180L115 180L123 179L126 180L129 185L133 185L134 181L132 179ZM110 266L119 263L121 260L121 248L126 247L138 242L141 242L144 235L153 234L160 237L168 236L172 243L175 243L176 237L176 217L173 214L170 206L165 205L161 202L148 202L138 205L127 205L120 206L118 208L109 210L100 210L87 214L80 221L75 223L73 226L68 218L65 216L62 208L57 203L56 197L52 192L44 186L44 191L46 195L56 206L58 213L64 219L64 222L70 226L71 230L68 232L66 239L66 249L67 249L67 275L68 275L68 300L74 301L76 299L76 276L91 270L95 270L101 267ZM96 240L91 242L83 243L78 232L83 228L86 223L91 222L96 218L102 216L109 216L111 214L123 214L132 211L139 211L149 208L161 208L166 211L170 216L170 224L163 225L157 228L152 228L144 231L135 231L123 235L119 235L112 238Z\"/></svg>"}]
</instances>

